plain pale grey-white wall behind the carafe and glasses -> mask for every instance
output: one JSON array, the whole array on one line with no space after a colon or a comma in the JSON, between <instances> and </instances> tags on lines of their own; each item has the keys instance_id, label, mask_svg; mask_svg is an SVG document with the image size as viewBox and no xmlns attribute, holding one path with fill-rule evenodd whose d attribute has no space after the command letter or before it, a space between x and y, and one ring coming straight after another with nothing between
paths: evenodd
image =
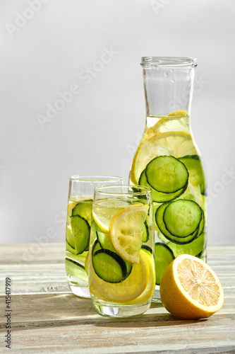
<instances>
[{"instance_id":1,"label":"plain pale grey-white wall behind the carafe and glasses","mask_svg":"<svg viewBox=\"0 0 235 354\"><path fill-rule=\"evenodd\" d=\"M198 59L208 240L234 240L234 13L222 0L1 0L1 243L64 241L71 175L128 181L145 126L142 56Z\"/></svg>"}]
</instances>

